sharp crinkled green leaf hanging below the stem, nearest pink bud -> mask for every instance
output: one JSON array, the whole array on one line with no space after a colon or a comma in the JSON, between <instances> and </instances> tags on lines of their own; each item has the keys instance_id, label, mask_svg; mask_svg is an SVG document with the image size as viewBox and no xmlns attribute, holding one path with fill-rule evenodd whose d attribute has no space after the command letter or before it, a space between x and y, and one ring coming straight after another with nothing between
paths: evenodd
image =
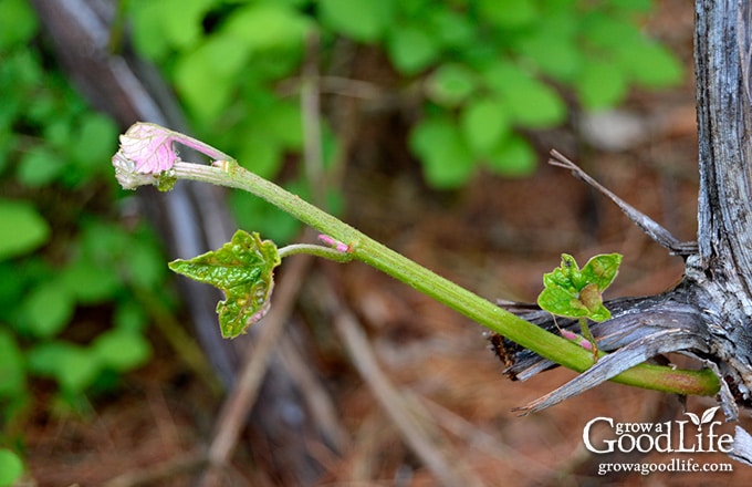
<instances>
[{"instance_id":1,"label":"sharp crinkled green leaf hanging below the stem, nearest pink bud","mask_svg":"<svg viewBox=\"0 0 752 487\"><path fill-rule=\"evenodd\" d=\"M219 327L222 336L236 338L267 313L274 284L272 273L279 265L274 242L238 230L220 249L190 260L174 260L169 268L224 293L224 301L217 304Z\"/></svg>"}]
</instances>

